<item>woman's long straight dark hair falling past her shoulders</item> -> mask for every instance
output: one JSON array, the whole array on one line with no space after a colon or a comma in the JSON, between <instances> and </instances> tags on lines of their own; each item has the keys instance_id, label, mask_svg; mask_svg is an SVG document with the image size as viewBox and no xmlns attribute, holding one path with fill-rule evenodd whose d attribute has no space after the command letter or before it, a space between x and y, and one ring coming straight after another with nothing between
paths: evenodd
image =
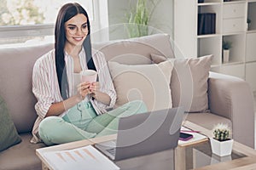
<instances>
[{"instance_id":1,"label":"woman's long straight dark hair falling past her shoulders","mask_svg":"<svg viewBox=\"0 0 256 170\"><path fill-rule=\"evenodd\" d=\"M96 67L91 58L91 44L90 44L90 21L87 12L79 3L67 3L63 5L57 16L55 23L55 67L61 91L62 99L68 98L68 82L67 82L67 70L65 64L65 42L67 40L65 33L65 22L70 20L77 14L84 14L87 18L88 35L84 40L84 50L86 54L86 60L88 62L88 68L96 70Z\"/></svg>"}]
</instances>

